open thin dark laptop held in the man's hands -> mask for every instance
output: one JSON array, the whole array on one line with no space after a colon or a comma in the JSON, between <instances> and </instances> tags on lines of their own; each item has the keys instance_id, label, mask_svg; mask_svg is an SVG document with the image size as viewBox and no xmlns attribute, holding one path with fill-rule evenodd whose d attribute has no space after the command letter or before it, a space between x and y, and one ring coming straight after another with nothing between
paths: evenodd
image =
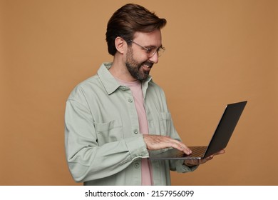
<instances>
[{"instance_id":1,"label":"open thin dark laptop held in the man's hands","mask_svg":"<svg viewBox=\"0 0 278 200\"><path fill-rule=\"evenodd\" d=\"M149 151L149 159L205 159L208 156L217 153L221 149L225 149L246 104L247 101L241 101L235 104L227 104L208 146L188 146L192 150L192 154L190 155L186 155L183 151L177 149L166 149L163 152Z\"/></svg>"}]
</instances>

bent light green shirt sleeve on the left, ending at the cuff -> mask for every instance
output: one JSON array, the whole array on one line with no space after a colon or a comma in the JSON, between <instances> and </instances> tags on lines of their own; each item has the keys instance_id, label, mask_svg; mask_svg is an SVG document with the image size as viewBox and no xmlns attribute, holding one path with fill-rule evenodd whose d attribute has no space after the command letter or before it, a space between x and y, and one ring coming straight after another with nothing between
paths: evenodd
<instances>
[{"instance_id":1,"label":"bent light green shirt sleeve on the left, ending at the cuff","mask_svg":"<svg viewBox=\"0 0 278 200\"><path fill-rule=\"evenodd\" d=\"M65 148L68 168L78 182L111 176L149 156L141 134L99 146L91 111L73 99L66 102Z\"/></svg>"}]
</instances>

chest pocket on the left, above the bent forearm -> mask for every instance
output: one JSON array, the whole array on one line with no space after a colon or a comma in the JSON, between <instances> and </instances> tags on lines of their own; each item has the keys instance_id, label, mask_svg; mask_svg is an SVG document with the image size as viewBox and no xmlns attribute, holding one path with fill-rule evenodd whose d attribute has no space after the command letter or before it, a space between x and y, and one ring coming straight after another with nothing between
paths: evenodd
<instances>
[{"instance_id":1,"label":"chest pocket on the left, above the bent forearm","mask_svg":"<svg viewBox=\"0 0 278 200\"><path fill-rule=\"evenodd\" d=\"M123 124L120 120L95 123L95 128L99 146L123 139Z\"/></svg>"}]
</instances>

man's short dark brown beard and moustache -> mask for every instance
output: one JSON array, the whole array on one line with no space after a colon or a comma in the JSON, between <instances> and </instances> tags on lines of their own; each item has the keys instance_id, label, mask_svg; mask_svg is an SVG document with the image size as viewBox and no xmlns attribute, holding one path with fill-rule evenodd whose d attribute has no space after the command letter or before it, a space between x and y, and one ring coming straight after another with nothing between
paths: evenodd
<instances>
[{"instance_id":1,"label":"man's short dark brown beard and moustache","mask_svg":"<svg viewBox=\"0 0 278 200\"><path fill-rule=\"evenodd\" d=\"M145 81L146 79L148 79L150 70L145 71L143 69L143 65L149 66L151 68L153 66L153 63L151 63L150 61L144 61L142 63L139 63L133 58L133 50L131 48L128 48L125 66L134 79L139 81Z\"/></svg>"}]
</instances>

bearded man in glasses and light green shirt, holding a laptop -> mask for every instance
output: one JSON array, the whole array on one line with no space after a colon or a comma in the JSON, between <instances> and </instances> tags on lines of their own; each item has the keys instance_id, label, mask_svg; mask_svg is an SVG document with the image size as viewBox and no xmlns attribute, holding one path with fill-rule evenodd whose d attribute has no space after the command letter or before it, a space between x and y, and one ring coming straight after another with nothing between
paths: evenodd
<instances>
[{"instance_id":1,"label":"bearded man in glasses and light green shirt, holding a laptop","mask_svg":"<svg viewBox=\"0 0 278 200\"><path fill-rule=\"evenodd\" d=\"M170 185L170 170L193 171L202 161L150 161L150 150L190 154L175 131L163 90L149 75L165 50L166 20L126 4L108 21L113 63L78 84L66 103L66 158L84 185ZM218 154L224 152L220 151Z\"/></svg>"}]
</instances>

